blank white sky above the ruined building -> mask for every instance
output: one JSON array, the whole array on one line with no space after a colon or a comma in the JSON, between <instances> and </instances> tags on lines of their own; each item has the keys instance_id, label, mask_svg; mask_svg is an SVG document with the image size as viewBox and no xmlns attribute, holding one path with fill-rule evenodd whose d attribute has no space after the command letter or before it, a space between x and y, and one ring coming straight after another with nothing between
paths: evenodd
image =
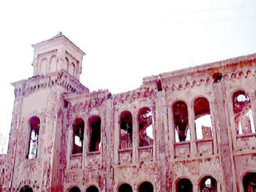
<instances>
[{"instance_id":1,"label":"blank white sky above the ruined building","mask_svg":"<svg viewBox=\"0 0 256 192\"><path fill-rule=\"evenodd\" d=\"M59 31L80 47L81 83L112 93L145 76L256 52L255 0L1 1L0 132L8 132L11 82L32 76L33 48Z\"/></svg>"}]
</instances>

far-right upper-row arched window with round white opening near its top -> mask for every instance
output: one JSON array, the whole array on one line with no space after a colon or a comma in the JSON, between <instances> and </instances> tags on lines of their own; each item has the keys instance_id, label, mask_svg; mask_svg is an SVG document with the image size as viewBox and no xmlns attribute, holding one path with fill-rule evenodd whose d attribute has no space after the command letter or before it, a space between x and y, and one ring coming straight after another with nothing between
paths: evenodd
<instances>
[{"instance_id":1,"label":"far-right upper-row arched window with round white opening near its top","mask_svg":"<svg viewBox=\"0 0 256 192\"><path fill-rule=\"evenodd\" d=\"M234 93L232 99L236 123L236 133L255 133L250 97L241 90Z\"/></svg>"}]
</instances>

